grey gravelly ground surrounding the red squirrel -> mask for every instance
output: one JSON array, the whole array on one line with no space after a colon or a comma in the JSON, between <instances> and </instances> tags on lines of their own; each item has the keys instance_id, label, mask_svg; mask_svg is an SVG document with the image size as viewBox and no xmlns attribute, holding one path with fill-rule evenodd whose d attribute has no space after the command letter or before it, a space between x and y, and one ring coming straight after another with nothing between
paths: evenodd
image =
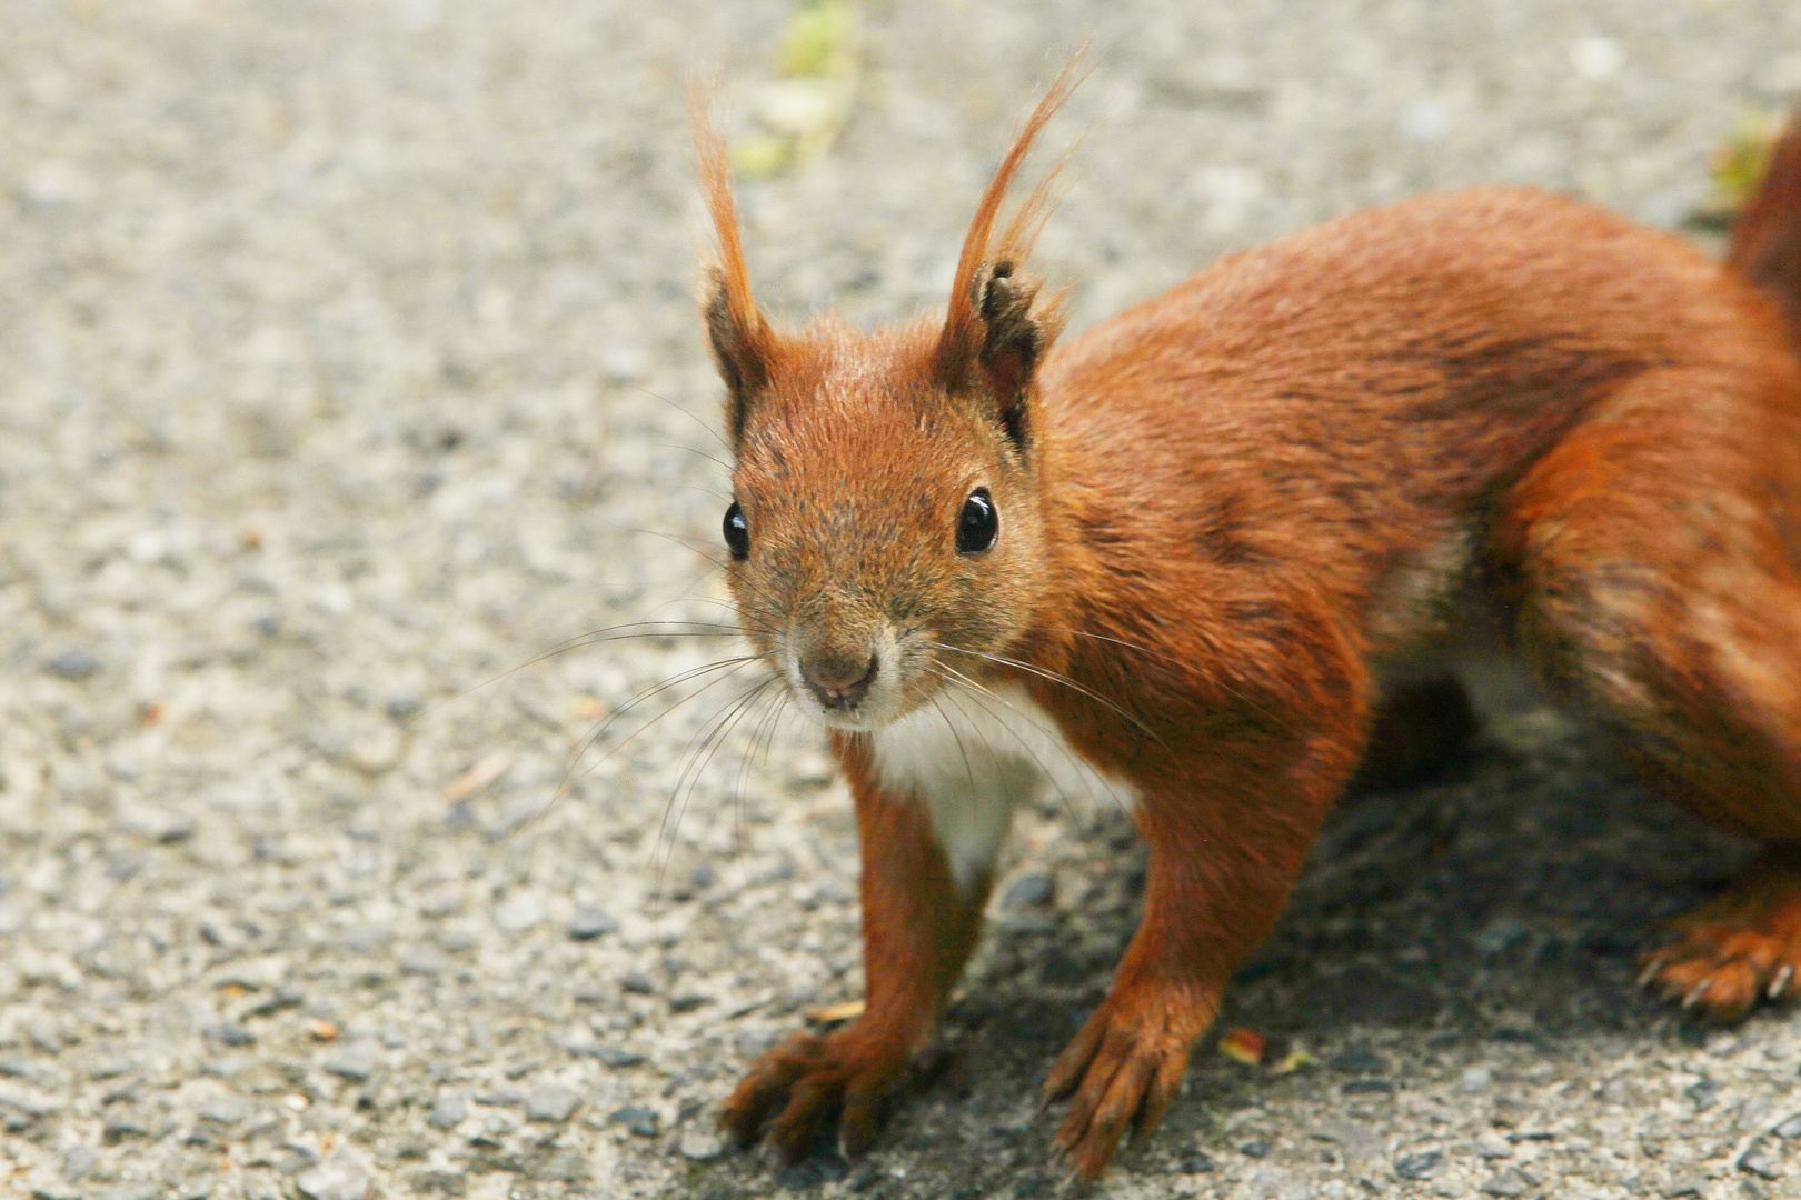
<instances>
[{"instance_id":1,"label":"grey gravelly ground surrounding the red squirrel","mask_svg":"<svg viewBox=\"0 0 1801 1200\"><path fill-rule=\"evenodd\" d=\"M537 657L720 612L681 94L765 77L787 11L0 0L5 1195L1063 1187L1030 1097L1131 930L1129 829L1023 813L879 1150L774 1171L711 1112L859 995L843 788L798 721L710 741L744 676L596 730L728 640ZM881 4L837 151L744 189L769 306L940 304L1082 40L1041 243L1079 326L1428 187L1673 225L1801 90L1792 0ZM1801 1020L1632 988L1743 853L1515 714L1345 806L1228 1002L1264 1065L1203 1045L1095 1195L1801 1195Z\"/></svg>"}]
</instances>

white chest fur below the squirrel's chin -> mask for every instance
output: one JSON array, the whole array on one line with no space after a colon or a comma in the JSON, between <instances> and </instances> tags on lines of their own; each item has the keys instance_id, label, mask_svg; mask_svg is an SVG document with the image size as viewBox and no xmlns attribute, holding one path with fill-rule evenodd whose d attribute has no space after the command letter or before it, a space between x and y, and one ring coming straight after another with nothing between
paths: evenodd
<instances>
[{"instance_id":1,"label":"white chest fur below the squirrel's chin","mask_svg":"<svg viewBox=\"0 0 1801 1200\"><path fill-rule=\"evenodd\" d=\"M1070 801L1093 797L1129 810L1138 790L1090 765L1025 689L1003 684L976 694L944 689L872 734L882 786L924 801L958 887L992 864L1012 810L1048 784Z\"/></svg>"}]
</instances>

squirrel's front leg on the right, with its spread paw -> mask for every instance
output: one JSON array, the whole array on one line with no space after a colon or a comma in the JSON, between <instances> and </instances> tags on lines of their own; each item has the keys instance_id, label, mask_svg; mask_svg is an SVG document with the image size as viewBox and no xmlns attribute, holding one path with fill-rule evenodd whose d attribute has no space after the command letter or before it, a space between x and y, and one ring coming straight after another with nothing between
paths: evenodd
<instances>
[{"instance_id":1,"label":"squirrel's front leg on the right, with its spread paw","mask_svg":"<svg viewBox=\"0 0 1801 1200\"><path fill-rule=\"evenodd\" d=\"M1045 1103L1070 1097L1055 1146L1084 1178L1127 1132L1156 1128L1232 972L1281 914L1353 757L1349 745L1261 777L1234 763L1225 779L1203 770L1198 786L1144 793L1144 919L1043 1090Z\"/></svg>"}]
</instances>

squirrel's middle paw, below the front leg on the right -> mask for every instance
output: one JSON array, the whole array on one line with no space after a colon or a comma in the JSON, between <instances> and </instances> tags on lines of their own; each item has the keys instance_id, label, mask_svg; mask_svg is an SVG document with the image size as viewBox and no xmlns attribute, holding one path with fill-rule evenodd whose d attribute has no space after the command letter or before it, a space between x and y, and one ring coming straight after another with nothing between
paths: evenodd
<instances>
[{"instance_id":1,"label":"squirrel's middle paw, below the front leg on the right","mask_svg":"<svg viewBox=\"0 0 1801 1200\"><path fill-rule=\"evenodd\" d=\"M1194 1049L1194 1033L1122 1007L1111 997L1102 1002L1045 1079L1046 1105L1070 1097L1054 1144L1082 1178L1106 1169L1127 1130L1138 1137L1156 1128Z\"/></svg>"}]
</instances>

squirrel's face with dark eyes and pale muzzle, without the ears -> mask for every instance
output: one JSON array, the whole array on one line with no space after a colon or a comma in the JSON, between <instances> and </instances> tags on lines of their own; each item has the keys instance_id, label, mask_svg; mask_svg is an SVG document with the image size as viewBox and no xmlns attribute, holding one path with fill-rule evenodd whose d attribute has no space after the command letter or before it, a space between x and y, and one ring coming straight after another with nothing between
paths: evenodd
<instances>
[{"instance_id":1,"label":"squirrel's face with dark eyes and pale muzzle, without the ears","mask_svg":"<svg viewBox=\"0 0 1801 1200\"><path fill-rule=\"evenodd\" d=\"M729 583L753 646L827 727L877 729L983 675L1045 592L1030 398L1012 412L938 362L928 326L821 320L771 333L738 372L758 385L733 421Z\"/></svg>"}]
</instances>

